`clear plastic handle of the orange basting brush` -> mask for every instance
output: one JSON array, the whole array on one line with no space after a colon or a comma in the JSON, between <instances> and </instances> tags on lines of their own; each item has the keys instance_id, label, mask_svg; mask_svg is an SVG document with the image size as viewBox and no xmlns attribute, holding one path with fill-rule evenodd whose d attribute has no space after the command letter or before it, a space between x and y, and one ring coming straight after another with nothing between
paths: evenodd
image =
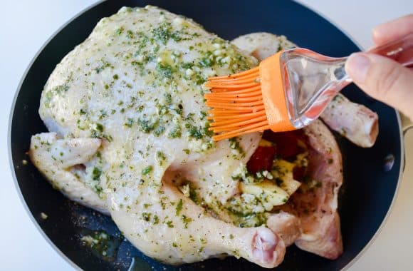
<instances>
[{"instance_id":1,"label":"clear plastic handle of the orange basting brush","mask_svg":"<svg viewBox=\"0 0 413 271\"><path fill-rule=\"evenodd\" d=\"M367 51L403 66L413 66L413 33ZM318 118L328 103L352 82L345 72L347 58L331 58L305 48L292 48L281 55L283 83L290 121L303 128Z\"/></svg>"}]
</instances>

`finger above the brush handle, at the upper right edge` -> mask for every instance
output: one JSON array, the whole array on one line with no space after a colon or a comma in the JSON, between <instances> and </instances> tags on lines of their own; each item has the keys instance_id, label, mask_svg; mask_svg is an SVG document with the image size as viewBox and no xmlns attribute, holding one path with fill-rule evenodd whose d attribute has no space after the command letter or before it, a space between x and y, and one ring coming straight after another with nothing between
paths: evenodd
<instances>
[{"instance_id":1,"label":"finger above the brush handle, at the upper right edge","mask_svg":"<svg viewBox=\"0 0 413 271\"><path fill-rule=\"evenodd\" d=\"M382 45L413 32L413 14L380 24L373 29L373 41Z\"/></svg>"}]
</instances>

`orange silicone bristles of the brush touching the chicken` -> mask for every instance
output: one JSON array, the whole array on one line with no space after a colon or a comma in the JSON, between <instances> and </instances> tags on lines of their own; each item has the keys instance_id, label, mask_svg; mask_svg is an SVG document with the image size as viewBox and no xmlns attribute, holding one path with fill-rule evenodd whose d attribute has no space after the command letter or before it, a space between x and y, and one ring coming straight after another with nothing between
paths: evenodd
<instances>
[{"instance_id":1,"label":"orange silicone bristles of the brush touching the chicken","mask_svg":"<svg viewBox=\"0 0 413 271\"><path fill-rule=\"evenodd\" d=\"M259 68L231 76L209 78L205 94L206 106L211 107L209 131L217 133L215 141L233 138L269 128L263 105Z\"/></svg>"}]
</instances>

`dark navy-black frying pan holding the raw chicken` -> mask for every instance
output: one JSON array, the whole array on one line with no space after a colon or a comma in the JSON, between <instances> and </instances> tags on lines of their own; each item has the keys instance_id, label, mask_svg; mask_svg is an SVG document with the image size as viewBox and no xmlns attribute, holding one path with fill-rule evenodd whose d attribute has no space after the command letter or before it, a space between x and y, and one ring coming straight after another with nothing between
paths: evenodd
<instances>
[{"instance_id":1,"label":"dark navy-black frying pan holding the raw chicken","mask_svg":"<svg viewBox=\"0 0 413 271\"><path fill-rule=\"evenodd\" d=\"M70 202L53 190L31 163L22 164L22 160L28 160L31 135L46 131L38 106L41 90L56 64L90 34L99 19L114 14L121 6L146 4L189 16L224 39L268 31L284 34L296 44L328 56L347 56L360 50L333 24L293 1L105 1L70 21L41 49L23 77L11 112L9 140L16 185L33 222L51 245L84 270L127 270L132 259L135 270L178 270L142 255L130 242L118 238L120 232L110 218ZM355 86L348 86L343 93L380 116L380 135L373 148L357 148L337 136L345 176L339 200L344 254L338 260L325 260L292 246L288 247L280 270L340 270L348 266L380 229L392 204L403 165L399 117L392 108L373 101ZM386 157L386 165L391 164L389 158L394 163L387 169ZM47 220L41 218L42 212L48 215ZM105 230L114 236L115 243L120 243L115 259L97 257L81 245L79 235L90 230ZM263 270L232 257L184 265L181 270L198 270L202 266L205 270Z\"/></svg>"}]
</instances>

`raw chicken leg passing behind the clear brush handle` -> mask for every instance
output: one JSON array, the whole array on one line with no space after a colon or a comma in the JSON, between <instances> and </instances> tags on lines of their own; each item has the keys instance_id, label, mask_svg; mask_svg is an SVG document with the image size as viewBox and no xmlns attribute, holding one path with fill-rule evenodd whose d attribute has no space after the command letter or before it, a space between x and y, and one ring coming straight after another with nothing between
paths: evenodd
<instances>
[{"instance_id":1,"label":"raw chicken leg passing behind the clear brush handle","mask_svg":"<svg viewBox=\"0 0 413 271\"><path fill-rule=\"evenodd\" d=\"M246 53L262 61L280 50L297 47L285 36L257 32L239 36L231 41ZM362 148L370 148L375 144L379 133L377 113L369 108L349 101L342 94L335 96L321 119L334 131Z\"/></svg>"}]
</instances>

